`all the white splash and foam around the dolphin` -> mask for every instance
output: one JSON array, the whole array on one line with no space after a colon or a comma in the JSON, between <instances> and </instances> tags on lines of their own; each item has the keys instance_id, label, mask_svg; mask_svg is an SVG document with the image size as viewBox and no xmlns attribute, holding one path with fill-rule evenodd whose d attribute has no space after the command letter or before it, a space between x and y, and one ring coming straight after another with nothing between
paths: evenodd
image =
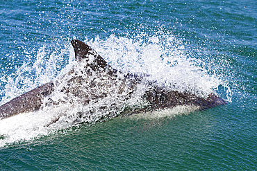
<instances>
[{"instance_id":1,"label":"all the white splash and foam around the dolphin","mask_svg":"<svg viewBox=\"0 0 257 171\"><path fill-rule=\"evenodd\" d=\"M158 33L152 36L142 34L135 37L111 35L106 39L85 37L83 42L92 46L114 69L124 73L149 74L151 75L149 80L158 80L158 84L177 91L189 91L199 96L206 96L213 89L217 89L220 84L224 84L218 75L210 75L206 69L201 68L201 60L190 57L183 43L170 34ZM1 78L2 82L6 82L5 95L1 104L40 84L69 77L67 73L71 69L83 68L83 63L74 60L73 48L68 43L64 48L58 45L55 50L50 50L47 46L42 46L35 52L36 60L33 64L24 63L17 68L15 73ZM65 56L69 57L69 62L66 64L63 62ZM31 56L28 55L28 57ZM84 80L90 80L90 77L86 75ZM105 80L101 82L104 84L97 86L108 85ZM133 100L125 100L122 96L117 98L118 90L113 90L113 96L92 100L86 106L80 105L80 102L65 103L55 108L44 108L42 111L19 114L0 120L0 147L49 135L60 129L78 125L78 123L93 124L108 120L118 116L119 112L124 110L124 106L128 109L142 107L144 102L140 101L140 96L142 96L140 89L144 88L138 88ZM62 90L55 91L51 96L52 100L76 101L76 98L62 96L60 91ZM172 111L156 111L147 113L144 117L174 116L189 113L191 109L181 107L174 108Z\"/></svg>"}]
</instances>

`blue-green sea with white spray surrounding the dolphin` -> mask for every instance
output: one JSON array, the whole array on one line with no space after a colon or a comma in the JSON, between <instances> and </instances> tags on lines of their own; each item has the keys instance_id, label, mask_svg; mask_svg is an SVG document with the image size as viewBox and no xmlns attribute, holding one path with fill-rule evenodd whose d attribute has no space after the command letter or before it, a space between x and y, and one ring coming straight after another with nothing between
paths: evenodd
<instances>
[{"instance_id":1,"label":"blue-green sea with white spray surrounding the dolphin","mask_svg":"<svg viewBox=\"0 0 257 171\"><path fill-rule=\"evenodd\" d=\"M0 1L0 105L66 73L72 39L228 102L51 129L47 114L0 120L0 170L257 170L256 24L254 0Z\"/></svg>"}]
</instances>

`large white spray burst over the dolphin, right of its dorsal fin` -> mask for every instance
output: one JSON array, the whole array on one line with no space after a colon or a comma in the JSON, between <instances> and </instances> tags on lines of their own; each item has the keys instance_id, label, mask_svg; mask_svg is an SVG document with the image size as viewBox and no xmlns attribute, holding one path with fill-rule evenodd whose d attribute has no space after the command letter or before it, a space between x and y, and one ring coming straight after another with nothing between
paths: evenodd
<instances>
[{"instance_id":1,"label":"large white spray burst over the dolphin, right of its dorsal fin","mask_svg":"<svg viewBox=\"0 0 257 171\"><path fill-rule=\"evenodd\" d=\"M111 35L106 40L85 39L113 68L131 73L147 73L160 84L192 93L210 93L222 80L209 75L201 60L191 58L182 42L172 35L140 35L126 38ZM107 58L106 58L107 57Z\"/></svg>"}]
</instances>

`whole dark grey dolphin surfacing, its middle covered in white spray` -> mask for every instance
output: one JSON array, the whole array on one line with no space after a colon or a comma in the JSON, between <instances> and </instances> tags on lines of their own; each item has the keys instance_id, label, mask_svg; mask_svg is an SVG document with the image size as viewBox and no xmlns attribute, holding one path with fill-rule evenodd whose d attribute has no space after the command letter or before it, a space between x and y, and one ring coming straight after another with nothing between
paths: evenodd
<instances>
[{"instance_id":1,"label":"whole dark grey dolphin surfacing, its middle covered in white spray","mask_svg":"<svg viewBox=\"0 0 257 171\"><path fill-rule=\"evenodd\" d=\"M226 104L215 93L200 97L194 93L180 92L160 86L154 81L146 80L148 76L146 74L137 75L117 71L90 46L79 40L73 39L72 46L76 66L62 78L42 84L1 105L0 119L63 103L80 103L85 106L91 101L97 102L110 96L126 101L133 98L136 91L140 91L140 100L147 105L132 111L124 109L122 111L124 114L172 108L178 105L193 105L199 110L204 110ZM139 89L140 86L144 89ZM63 94L63 98L56 99L55 91Z\"/></svg>"}]
</instances>

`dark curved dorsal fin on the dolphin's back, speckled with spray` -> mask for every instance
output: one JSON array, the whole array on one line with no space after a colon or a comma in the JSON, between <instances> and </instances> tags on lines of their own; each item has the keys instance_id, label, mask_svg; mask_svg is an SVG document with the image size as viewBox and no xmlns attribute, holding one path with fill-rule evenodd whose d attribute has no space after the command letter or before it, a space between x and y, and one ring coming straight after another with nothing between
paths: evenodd
<instances>
[{"instance_id":1,"label":"dark curved dorsal fin on the dolphin's back, speckled with spray","mask_svg":"<svg viewBox=\"0 0 257 171\"><path fill-rule=\"evenodd\" d=\"M76 60L80 61L84 58L88 58L89 55L94 55L94 60L90 63L90 66L92 66L94 69L97 69L98 67L103 69L111 69L111 66L105 60L103 60L103 58L98 55L90 46L88 46L88 44L85 44L80 40L73 39L72 46L75 51Z\"/></svg>"}]
</instances>

